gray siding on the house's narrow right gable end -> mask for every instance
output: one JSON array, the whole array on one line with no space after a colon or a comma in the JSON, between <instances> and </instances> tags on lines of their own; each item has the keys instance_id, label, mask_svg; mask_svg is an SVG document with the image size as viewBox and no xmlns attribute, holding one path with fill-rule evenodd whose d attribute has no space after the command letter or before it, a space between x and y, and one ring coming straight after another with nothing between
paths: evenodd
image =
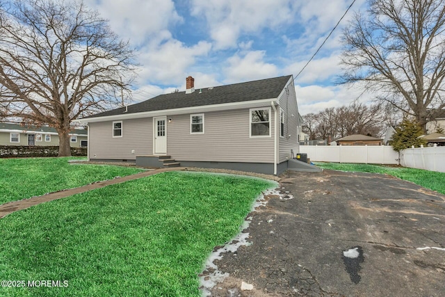
<instances>
[{"instance_id":1,"label":"gray siding on the house's narrow right gable end","mask_svg":"<svg viewBox=\"0 0 445 297\"><path fill-rule=\"evenodd\" d=\"M286 90L284 90L279 99L280 108L284 111L284 137L278 137L278 163L284 162L286 159L290 158L291 150L293 150L294 154L299 152L298 107L293 81L291 81L286 88L289 90L289 94L286 93ZM280 125L280 119L278 120L278 125ZM280 127L278 129L278 133L281 135Z\"/></svg>"}]
</instances>

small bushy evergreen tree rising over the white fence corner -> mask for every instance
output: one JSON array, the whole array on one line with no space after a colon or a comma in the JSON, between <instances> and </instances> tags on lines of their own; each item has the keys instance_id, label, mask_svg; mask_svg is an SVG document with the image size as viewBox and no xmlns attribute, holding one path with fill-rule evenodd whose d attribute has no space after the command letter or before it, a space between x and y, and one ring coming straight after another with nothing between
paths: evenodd
<instances>
[{"instance_id":1,"label":"small bushy evergreen tree rising over the white fence corner","mask_svg":"<svg viewBox=\"0 0 445 297\"><path fill-rule=\"evenodd\" d=\"M400 127L396 127L396 133L391 138L391 146L396 152L412 147L426 145L426 141L419 136L423 135L421 126L415 120L404 119Z\"/></svg>"}]
</instances>

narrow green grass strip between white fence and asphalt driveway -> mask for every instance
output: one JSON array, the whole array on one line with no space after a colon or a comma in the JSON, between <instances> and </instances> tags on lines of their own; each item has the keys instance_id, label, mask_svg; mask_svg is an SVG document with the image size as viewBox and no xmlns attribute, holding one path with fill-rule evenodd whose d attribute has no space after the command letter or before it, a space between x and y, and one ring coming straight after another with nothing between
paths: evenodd
<instances>
[{"instance_id":1,"label":"narrow green grass strip between white fence and asphalt driveway","mask_svg":"<svg viewBox=\"0 0 445 297\"><path fill-rule=\"evenodd\" d=\"M403 180L414 182L425 188L445 194L445 172L435 172L415 168L388 167L371 164L350 164L350 163L321 163L316 162L316 166L342 171L353 172L373 172L386 175L393 175Z\"/></svg>"}]
</instances>

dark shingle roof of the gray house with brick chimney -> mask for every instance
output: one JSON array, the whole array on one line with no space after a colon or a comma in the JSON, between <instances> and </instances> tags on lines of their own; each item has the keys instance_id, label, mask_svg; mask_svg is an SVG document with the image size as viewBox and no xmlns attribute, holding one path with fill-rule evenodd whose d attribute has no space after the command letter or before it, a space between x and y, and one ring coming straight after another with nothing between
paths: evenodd
<instances>
[{"instance_id":1,"label":"dark shingle roof of the gray house with brick chimney","mask_svg":"<svg viewBox=\"0 0 445 297\"><path fill-rule=\"evenodd\" d=\"M112 111L90 115L86 118L245 102L259 99L272 99L277 98L278 95L280 95L290 78L291 75L288 75L286 77L275 77L272 79L234 83L232 85L217 86L213 88L202 88L195 90L195 92L191 94L186 94L184 91L159 95L152 99L145 100L144 102L129 105L126 112L125 108L122 107L120 109L113 109Z\"/></svg>"}]
</instances>

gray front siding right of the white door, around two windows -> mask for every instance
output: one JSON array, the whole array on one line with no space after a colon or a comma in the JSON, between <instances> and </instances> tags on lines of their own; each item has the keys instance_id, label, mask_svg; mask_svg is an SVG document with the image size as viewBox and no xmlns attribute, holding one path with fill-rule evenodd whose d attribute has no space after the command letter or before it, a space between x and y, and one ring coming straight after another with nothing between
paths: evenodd
<instances>
[{"instance_id":1,"label":"gray front siding right of the white door, around two windows","mask_svg":"<svg viewBox=\"0 0 445 297\"><path fill-rule=\"evenodd\" d=\"M267 138L250 138L249 109L204 113L204 134L190 133L190 114L168 115L167 154L179 161L273 163L272 108L270 112Z\"/></svg>"}]
</instances>

